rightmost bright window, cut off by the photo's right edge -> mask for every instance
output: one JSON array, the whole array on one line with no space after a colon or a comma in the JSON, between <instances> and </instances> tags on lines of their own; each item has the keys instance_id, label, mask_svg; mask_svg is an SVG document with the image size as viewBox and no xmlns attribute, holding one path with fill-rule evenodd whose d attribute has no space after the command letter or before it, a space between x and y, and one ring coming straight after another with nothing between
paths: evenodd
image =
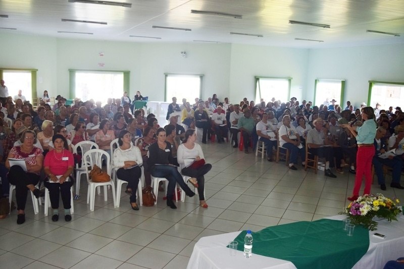
<instances>
[{"instance_id":1,"label":"rightmost bright window, cut off by the photo's right edge","mask_svg":"<svg viewBox=\"0 0 404 269\"><path fill-rule=\"evenodd\" d=\"M379 103L381 109L388 110L389 106L401 106L400 100L404 100L404 82L369 81L368 105Z\"/></svg>"}]
</instances>

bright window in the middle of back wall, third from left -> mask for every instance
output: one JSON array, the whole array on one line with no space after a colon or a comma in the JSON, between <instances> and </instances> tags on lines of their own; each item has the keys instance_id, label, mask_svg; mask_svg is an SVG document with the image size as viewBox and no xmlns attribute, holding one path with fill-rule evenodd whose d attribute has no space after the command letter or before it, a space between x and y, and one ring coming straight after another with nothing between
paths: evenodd
<instances>
[{"instance_id":1,"label":"bright window in the middle of back wall, third from left","mask_svg":"<svg viewBox=\"0 0 404 269\"><path fill-rule=\"evenodd\" d=\"M192 104L195 98L200 98L203 75L166 75L166 102L177 97L178 104L182 104L182 98Z\"/></svg>"}]
</instances>

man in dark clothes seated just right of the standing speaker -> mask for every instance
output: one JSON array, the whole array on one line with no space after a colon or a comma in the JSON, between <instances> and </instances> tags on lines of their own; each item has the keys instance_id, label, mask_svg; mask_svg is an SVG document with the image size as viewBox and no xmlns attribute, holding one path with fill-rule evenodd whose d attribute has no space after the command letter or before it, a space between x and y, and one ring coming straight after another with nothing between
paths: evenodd
<instances>
[{"instance_id":1,"label":"man in dark clothes seated just right of the standing speaker","mask_svg":"<svg viewBox=\"0 0 404 269\"><path fill-rule=\"evenodd\" d=\"M373 156L372 163L375 168L375 173L377 175L377 181L380 185L381 190L386 190L386 183L384 181L383 165L392 168L392 181L390 187L404 189L400 185L401 169L402 169L402 159L394 156L389 156L388 158L381 158L380 155L387 151L387 147L384 144L383 137L386 134L386 129L383 127L377 128L375 137L375 150L376 154Z\"/></svg>"}]
</instances>

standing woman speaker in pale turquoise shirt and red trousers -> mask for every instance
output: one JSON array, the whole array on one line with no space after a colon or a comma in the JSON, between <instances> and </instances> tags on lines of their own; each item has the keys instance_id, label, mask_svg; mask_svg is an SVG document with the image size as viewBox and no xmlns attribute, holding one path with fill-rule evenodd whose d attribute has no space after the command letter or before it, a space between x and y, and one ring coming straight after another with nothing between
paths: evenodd
<instances>
[{"instance_id":1,"label":"standing woman speaker in pale turquoise shirt and red trousers","mask_svg":"<svg viewBox=\"0 0 404 269\"><path fill-rule=\"evenodd\" d=\"M361 112L364 121L361 127L351 126L353 124L342 124L342 127L347 127L354 135L358 145L357 174L355 176L354 191L352 196L348 197L350 201L358 199L363 176L365 176L364 194L370 194L370 187L372 185L372 159L375 155L373 143L376 137L375 113L370 106L363 107Z\"/></svg>"}]
</instances>

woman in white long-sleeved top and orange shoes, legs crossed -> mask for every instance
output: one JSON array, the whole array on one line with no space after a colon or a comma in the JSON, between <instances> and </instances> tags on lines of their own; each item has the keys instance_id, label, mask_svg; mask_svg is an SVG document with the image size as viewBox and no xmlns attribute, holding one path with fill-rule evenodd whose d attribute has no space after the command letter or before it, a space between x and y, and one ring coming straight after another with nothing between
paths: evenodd
<instances>
[{"instance_id":1,"label":"woman in white long-sleeved top and orange shoes, legs crossed","mask_svg":"<svg viewBox=\"0 0 404 269\"><path fill-rule=\"evenodd\" d=\"M196 132L194 129L188 129L185 132L184 143L178 147L177 161L181 168L181 173L185 176L190 176L189 181L192 185L198 188L199 205L203 208L208 208L206 204L204 190L205 190L205 177L204 175L212 169L211 164L204 164L198 168L191 168L190 164L194 161L204 159L204 153L199 144L195 143ZM197 182L193 180L196 178Z\"/></svg>"}]
</instances>

